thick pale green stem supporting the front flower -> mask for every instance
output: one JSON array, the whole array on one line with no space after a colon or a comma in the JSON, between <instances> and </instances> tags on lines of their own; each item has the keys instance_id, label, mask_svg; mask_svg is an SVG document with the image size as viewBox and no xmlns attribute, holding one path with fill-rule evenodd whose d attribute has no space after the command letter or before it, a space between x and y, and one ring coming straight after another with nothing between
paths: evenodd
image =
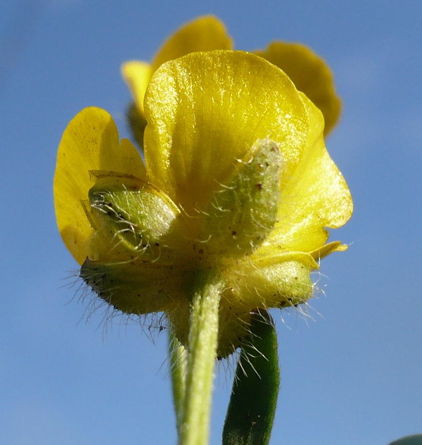
<instances>
[{"instance_id":1,"label":"thick pale green stem supporting the front flower","mask_svg":"<svg viewBox=\"0 0 422 445\"><path fill-rule=\"evenodd\" d=\"M223 281L201 278L191 298L186 390L179 445L208 443L211 395L217 349L218 308Z\"/></svg>"}]
</instances>

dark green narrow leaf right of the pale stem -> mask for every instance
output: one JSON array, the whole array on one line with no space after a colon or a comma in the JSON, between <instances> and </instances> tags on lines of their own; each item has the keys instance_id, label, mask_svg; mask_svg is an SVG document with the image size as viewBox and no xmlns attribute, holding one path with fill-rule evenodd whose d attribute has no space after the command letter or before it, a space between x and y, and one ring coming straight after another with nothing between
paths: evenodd
<instances>
[{"instance_id":1,"label":"dark green narrow leaf right of the pale stem","mask_svg":"<svg viewBox=\"0 0 422 445\"><path fill-rule=\"evenodd\" d=\"M280 387L277 334L271 315L252 315L249 341L240 351L223 429L223 445L267 445Z\"/></svg>"}]
</instances>

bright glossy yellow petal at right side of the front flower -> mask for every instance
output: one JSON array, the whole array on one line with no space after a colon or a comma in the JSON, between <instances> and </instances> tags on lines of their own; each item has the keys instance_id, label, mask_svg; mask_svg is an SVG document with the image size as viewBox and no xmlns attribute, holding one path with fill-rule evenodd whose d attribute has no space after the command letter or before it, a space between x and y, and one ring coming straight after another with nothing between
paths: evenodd
<instances>
[{"instance_id":1,"label":"bright glossy yellow petal at right side of the front flower","mask_svg":"<svg viewBox=\"0 0 422 445\"><path fill-rule=\"evenodd\" d=\"M303 100L310 122L306 151L281 191L279 223L263 251L320 249L328 239L325 228L341 227L353 211L347 184L324 144L321 112L304 95Z\"/></svg>"}]
</instances>

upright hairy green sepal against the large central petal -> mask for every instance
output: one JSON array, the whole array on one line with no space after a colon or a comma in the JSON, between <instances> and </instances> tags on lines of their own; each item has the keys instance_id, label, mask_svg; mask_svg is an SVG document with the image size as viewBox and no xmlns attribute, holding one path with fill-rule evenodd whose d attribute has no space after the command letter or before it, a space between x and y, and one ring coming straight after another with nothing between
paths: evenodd
<instances>
[{"instance_id":1,"label":"upright hairy green sepal against the large central petal","mask_svg":"<svg viewBox=\"0 0 422 445\"><path fill-rule=\"evenodd\" d=\"M243 257L264 242L277 222L283 163L278 144L269 139L256 141L247 157L237 160L233 175L204 210L202 237L210 253Z\"/></svg>"}]
</instances>

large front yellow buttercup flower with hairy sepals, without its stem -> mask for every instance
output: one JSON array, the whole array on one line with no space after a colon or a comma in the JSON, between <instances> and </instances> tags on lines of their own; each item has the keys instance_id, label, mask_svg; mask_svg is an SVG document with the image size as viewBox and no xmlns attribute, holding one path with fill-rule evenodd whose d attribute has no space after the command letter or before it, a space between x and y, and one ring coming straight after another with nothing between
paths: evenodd
<instances>
[{"instance_id":1,"label":"large front yellow buttercup flower with hairy sepals, without its stem","mask_svg":"<svg viewBox=\"0 0 422 445\"><path fill-rule=\"evenodd\" d=\"M111 116L82 110L57 155L54 198L81 277L126 313L163 311L187 343L188 289L223 276L218 356L250 311L306 301L310 273L351 216L320 110L287 75L242 51L162 64L144 98L145 165Z\"/></svg>"}]
</instances>

